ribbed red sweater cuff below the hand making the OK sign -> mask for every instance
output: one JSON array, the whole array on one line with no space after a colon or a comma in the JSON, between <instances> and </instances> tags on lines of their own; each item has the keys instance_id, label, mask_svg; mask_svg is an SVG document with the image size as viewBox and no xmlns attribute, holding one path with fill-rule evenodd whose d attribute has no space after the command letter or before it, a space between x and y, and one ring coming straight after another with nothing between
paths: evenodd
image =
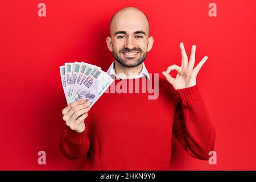
<instances>
[{"instance_id":1,"label":"ribbed red sweater cuff below the hand making the OK sign","mask_svg":"<svg viewBox=\"0 0 256 182\"><path fill-rule=\"evenodd\" d=\"M197 85L190 86L184 89L177 89L176 92L180 95L181 100L184 104L188 104L189 102L201 99L201 94L199 93Z\"/></svg>"}]
</instances>

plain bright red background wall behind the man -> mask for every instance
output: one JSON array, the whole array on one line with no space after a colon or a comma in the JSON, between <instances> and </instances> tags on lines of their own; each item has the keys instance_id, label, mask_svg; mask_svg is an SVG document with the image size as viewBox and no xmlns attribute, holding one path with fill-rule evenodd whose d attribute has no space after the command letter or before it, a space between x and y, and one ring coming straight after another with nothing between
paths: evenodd
<instances>
[{"instance_id":1,"label":"plain bright red background wall behind the man","mask_svg":"<svg viewBox=\"0 0 256 182\"><path fill-rule=\"evenodd\" d=\"M59 151L65 97L59 66L86 61L106 71L113 61L106 47L109 20L135 6L150 19L154 46L144 62L153 73L180 65L179 42L196 64L197 77L216 128L217 165L188 156L174 139L172 169L256 169L255 1L41 1L0 2L0 169L82 169ZM208 5L217 4L217 17ZM46 165L38 151L46 151Z\"/></svg>"}]
</instances>

